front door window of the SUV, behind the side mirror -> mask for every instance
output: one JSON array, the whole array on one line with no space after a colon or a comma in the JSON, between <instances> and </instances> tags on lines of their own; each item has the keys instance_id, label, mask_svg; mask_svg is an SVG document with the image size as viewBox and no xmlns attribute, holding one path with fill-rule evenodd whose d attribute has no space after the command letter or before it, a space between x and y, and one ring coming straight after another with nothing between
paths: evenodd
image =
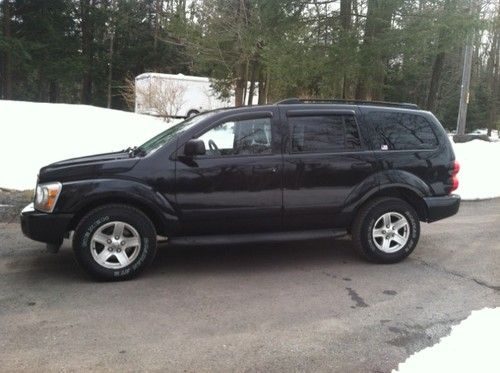
<instances>
[{"instance_id":1,"label":"front door window of the SUV, behind the side mirror","mask_svg":"<svg viewBox=\"0 0 500 373\"><path fill-rule=\"evenodd\" d=\"M224 122L199 136L199 139L205 143L208 156L271 154L271 119Z\"/></svg>"}]
</instances>

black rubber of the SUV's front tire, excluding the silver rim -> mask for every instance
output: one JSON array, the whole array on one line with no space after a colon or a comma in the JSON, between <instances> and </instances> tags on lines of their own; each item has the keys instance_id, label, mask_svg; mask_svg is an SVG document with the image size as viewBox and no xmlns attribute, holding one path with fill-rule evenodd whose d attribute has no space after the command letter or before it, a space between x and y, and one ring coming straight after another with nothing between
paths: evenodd
<instances>
[{"instance_id":1,"label":"black rubber of the SUV's front tire, excluding the silver rim","mask_svg":"<svg viewBox=\"0 0 500 373\"><path fill-rule=\"evenodd\" d=\"M137 230L141 240L140 253L128 266L120 269L105 268L92 256L91 239L104 224L123 221ZM128 279L139 274L153 259L156 253L156 233L146 216L134 210L120 207L99 209L87 215L75 230L73 248L80 264L94 277L104 280Z\"/></svg>"}]
</instances>

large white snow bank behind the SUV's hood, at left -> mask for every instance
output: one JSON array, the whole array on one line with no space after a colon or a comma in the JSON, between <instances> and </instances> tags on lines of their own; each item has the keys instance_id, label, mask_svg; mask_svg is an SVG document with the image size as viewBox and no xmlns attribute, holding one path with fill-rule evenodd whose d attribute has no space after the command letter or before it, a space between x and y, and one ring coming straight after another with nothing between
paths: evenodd
<instances>
[{"instance_id":1,"label":"large white snow bank behind the SUV's hood, at left","mask_svg":"<svg viewBox=\"0 0 500 373\"><path fill-rule=\"evenodd\" d=\"M33 189L42 166L141 145L172 124L94 106L0 100L0 187Z\"/></svg>"}]
</instances>

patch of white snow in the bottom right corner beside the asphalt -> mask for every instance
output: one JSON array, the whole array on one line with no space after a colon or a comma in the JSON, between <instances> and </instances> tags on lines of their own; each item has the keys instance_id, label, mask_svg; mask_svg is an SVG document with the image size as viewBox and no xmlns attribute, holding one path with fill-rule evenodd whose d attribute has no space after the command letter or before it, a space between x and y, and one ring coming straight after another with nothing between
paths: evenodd
<instances>
[{"instance_id":1,"label":"patch of white snow in the bottom right corner beside the asphalt","mask_svg":"<svg viewBox=\"0 0 500 373\"><path fill-rule=\"evenodd\" d=\"M473 311L451 334L400 363L393 373L499 372L500 308Z\"/></svg>"}]
</instances>

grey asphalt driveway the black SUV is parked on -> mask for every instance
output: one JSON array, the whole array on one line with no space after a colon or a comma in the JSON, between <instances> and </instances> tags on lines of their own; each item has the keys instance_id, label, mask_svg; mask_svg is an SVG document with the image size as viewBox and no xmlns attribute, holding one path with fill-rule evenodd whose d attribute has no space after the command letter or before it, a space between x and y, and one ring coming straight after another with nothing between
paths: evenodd
<instances>
[{"instance_id":1,"label":"grey asphalt driveway the black SUV is parked on","mask_svg":"<svg viewBox=\"0 0 500 373\"><path fill-rule=\"evenodd\" d=\"M348 240L165 246L141 278L95 283L0 223L0 369L388 372L500 306L500 199L422 228L396 265Z\"/></svg>"}]
</instances>

